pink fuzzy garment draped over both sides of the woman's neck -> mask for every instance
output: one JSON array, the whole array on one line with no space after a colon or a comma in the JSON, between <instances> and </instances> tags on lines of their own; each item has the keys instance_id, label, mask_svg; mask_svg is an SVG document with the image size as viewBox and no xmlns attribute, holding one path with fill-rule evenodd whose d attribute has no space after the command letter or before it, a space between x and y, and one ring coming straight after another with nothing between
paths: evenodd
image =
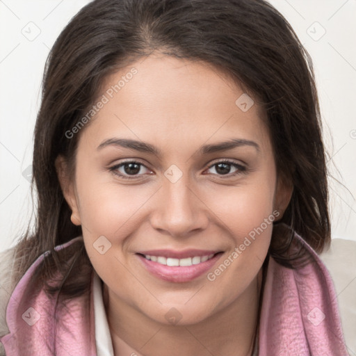
<instances>
[{"instance_id":1,"label":"pink fuzzy garment draped over both sides of the woman's neck","mask_svg":"<svg viewBox=\"0 0 356 356\"><path fill-rule=\"evenodd\" d=\"M330 274L314 250L300 236L296 235L296 240L309 251L312 263L291 270L270 257L259 356L348 356ZM31 284L31 276L45 255L29 268L8 302L10 333L0 338L6 356L97 356L92 284L90 293L70 300L58 311L56 322L55 298L47 297L42 285Z\"/></svg>"}]
</instances>

